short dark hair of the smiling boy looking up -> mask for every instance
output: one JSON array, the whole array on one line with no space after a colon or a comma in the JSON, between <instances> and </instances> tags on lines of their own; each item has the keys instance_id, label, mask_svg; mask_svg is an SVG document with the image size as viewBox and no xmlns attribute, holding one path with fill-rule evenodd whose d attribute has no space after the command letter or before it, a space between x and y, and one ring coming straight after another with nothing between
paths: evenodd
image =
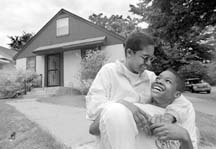
<instances>
[{"instance_id":1,"label":"short dark hair of the smiling boy looking up","mask_svg":"<svg viewBox=\"0 0 216 149\"><path fill-rule=\"evenodd\" d=\"M176 81L176 90L183 92L185 90L185 83L184 83L184 79L173 69L169 68L166 71L170 71L171 73L173 73L175 75L175 81Z\"/></svg>"}]
</instances>

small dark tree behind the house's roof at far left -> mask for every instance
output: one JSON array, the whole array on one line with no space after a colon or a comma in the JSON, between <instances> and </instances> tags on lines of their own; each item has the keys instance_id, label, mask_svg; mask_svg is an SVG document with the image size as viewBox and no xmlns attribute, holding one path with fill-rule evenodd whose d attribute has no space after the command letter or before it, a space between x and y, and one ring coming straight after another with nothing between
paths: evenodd
<instances>
[{"instance_id":1,"label":"small dark tree behind the house's roof at far left","mask_svg":"<svg viewBox=\"0 0 216 149\"><path fill-rule=\"evenodd\" d=\"M19 51L31 39L33 33L23 32L21 36L8 36L11 42L8 44L12 49Z\"/></svg>"}]
</instances>

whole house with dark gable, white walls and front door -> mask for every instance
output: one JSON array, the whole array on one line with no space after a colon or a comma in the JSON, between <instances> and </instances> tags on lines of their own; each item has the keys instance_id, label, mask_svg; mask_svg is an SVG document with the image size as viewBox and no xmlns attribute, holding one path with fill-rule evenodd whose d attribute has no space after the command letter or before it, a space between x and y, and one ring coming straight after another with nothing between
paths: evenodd
<instances>
[{"instance_id":1,"label":"whole house with dark gable, white walls and front door","mask_svg":"<svg viewBox=\"0 0 216 149\"><path fill-rule=\"evenodd\" d=\"M124 58L124 38L61 9L15 56L17 69L36 71L43 87L70 87L89 49Z\"/></svg>"}]
</instances>

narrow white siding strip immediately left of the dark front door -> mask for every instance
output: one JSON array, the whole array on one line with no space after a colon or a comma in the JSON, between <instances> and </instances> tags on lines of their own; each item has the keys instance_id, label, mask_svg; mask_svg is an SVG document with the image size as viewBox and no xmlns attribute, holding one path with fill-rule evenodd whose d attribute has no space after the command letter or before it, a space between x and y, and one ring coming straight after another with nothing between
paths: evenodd
<instances>
[{"instance_id":1,"label":"narrow white siding strip immediately left of the dark front door","mask_svg":"<svg viewBox=\"0 0 216 149\"><path fill-rule=\"evenodd\" d=\"M45 58L44 56L36 56L36 73L42 74L42 86L44 86L44 76L45 76Z\"/></svg>"}]
</instances>

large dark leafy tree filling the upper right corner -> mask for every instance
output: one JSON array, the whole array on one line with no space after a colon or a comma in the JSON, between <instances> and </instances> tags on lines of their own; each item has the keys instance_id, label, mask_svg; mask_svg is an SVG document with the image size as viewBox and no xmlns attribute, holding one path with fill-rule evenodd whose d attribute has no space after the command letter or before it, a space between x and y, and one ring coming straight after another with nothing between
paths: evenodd
<instances>
[{"instance_id":1,"label":"large dark leafy tree filling the upper right corner","mask_svg":"<svg viewBox=\"0 0 216 149\"><path fill-rule=\"evenodd\" d=\"M158 57L164 62L158 67L178 69L191 61L212 60L215 48L202 41L209 38L206 28L216 24L216 1L141 0L130 5L130 12L148 22L149 32L158 38L157 53L163 53Z\"/></svg>"}]
</instances>

